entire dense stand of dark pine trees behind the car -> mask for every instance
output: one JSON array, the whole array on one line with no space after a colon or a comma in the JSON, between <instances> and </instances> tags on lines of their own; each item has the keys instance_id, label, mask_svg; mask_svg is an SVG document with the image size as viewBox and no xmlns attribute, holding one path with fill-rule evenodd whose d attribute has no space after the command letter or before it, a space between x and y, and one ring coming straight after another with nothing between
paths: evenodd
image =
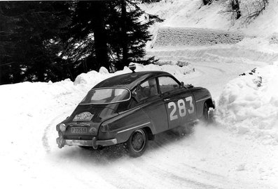
<instances>
[{"instance_id":1,"label":"entire dense stand of dark pine trees behind the car","mask_svg":"<svg viewBox=\"0 0 278 189\"><path fill-rule=\"evenodd\" d=\"M144 60L148 27L135 1L0 2L0 84L53 82Z\"/></svg>"}]
</instances>

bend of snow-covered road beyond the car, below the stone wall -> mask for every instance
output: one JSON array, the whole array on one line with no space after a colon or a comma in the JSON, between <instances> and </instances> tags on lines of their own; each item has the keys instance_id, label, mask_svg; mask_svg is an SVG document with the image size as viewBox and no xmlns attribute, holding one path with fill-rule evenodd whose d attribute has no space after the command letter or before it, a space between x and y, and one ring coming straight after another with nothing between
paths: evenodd
<instances>
[{"instance_id":1,"label":"bend of snow-covered road beyond the car, below the stone wall","mask_svg":"<svg viewBox=\"0 0 278 189\"><path fill-rule=\"evenodd\" d=\"M155 56L162 61L188 61L195 68L195 73L175 76L185 84L206 87L217 100L228 81L246 70L265 66L278 59L277 53L267 54L230 46L186 47L177 50L172 50L175 47L171 50L164 47L150 50L148 56Z\"/></svg>"}]
</instances>

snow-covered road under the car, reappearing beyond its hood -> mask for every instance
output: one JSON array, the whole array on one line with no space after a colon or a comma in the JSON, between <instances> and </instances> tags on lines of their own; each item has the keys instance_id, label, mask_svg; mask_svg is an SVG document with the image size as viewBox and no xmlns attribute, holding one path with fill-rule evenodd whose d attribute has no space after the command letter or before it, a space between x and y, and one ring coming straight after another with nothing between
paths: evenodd
<instances>
[{"instance_id":1,"label":"snow-covered road under the car, reappearing beyond its hood","mask_svg":"<svg viewBox=\"0 0 278 189\"><path fill-rule=\"evenodd\" d=\"M205 62L193 63L196 73L181 80L206 86L218 98L223 85L256 65ZM180 75L179 75L180 76ZM72 109L74 105L70 106ZM190 132L179 129L162 133L150 142L144 156L130 158L123 146L90 151L74 146L58 149L55 144L59 123L72 111L56 109L41 135L42 165L31 166L39 180L61 180L65 188L275 188L278 167L277 146L265 146L231 135L216 126L198 123ZM188 135L188 133L190 135ZM32 159L36 163L36 158ZM32 162L33 164L33 162ZM47 169L46 169L47 168ZM43 173L39 170L46 169ZM46 173L48 173L46 175ZM31 179L31 178L29 178ZM32 181L32 179L31 179ZM275 183L272 186L270 183ZM50 182L51 183L51 182ZM56 181L55 181L56 183ZM46 183L48 188L48 183ZM53 187L53 186L51 186ZM60 185L57 185L57 188Z\"/></svg>"}]
</instances>

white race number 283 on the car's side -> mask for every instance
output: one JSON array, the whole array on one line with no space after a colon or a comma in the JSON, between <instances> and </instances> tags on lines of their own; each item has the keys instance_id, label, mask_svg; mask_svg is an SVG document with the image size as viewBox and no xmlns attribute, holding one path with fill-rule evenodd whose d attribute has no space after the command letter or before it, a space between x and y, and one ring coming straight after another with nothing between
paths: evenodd
<instances>
[{"instance_id":1,"label":"white race number 283 on the car's side","mask_svg":"<svg viewBox=\"0 0 278 189\"><path fill-rule=\"evenodd\" d=\"M189 109L186 109L186 102L189 102ZM168 108L172 109L172 111L170 112L170 121L174 119L178 119L178 114L179 116L183 117L186 116L187 113L192 114L194 112L192 96L186 97L186 102L183 99L179 99L177 101L177 107L176 107L176 103L174 102L168 103Z\"/></svg>"}]
</instances>

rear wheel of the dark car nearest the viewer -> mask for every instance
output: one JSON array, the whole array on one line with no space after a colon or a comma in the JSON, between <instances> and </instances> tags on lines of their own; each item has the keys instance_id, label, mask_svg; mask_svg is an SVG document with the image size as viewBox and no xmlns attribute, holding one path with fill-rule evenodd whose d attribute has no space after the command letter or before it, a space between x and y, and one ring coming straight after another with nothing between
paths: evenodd
<instances>
[{"instance_id":1,"label":"rear wheel of the dark car nearest the viewer","mask_svg":"<svg viewBox=\"0 0 278 189\"><path fill-rule=\"evenodd\" d=\"M148 133L146 133L146 130L135 130L132 135L130 135L130 139L128 139L126 142L127 153L130 156L137 158L144 153L147 144Z\"/></svg>"}]
</instances>

